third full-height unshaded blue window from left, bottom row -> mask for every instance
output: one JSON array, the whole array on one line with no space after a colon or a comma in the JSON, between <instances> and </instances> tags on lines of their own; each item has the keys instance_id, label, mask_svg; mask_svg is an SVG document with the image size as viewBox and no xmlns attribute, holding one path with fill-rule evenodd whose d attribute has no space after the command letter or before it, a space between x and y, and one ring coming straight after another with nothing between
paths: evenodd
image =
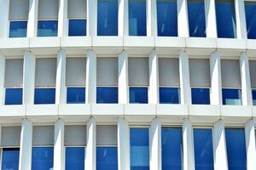
<instances>
[{"instance_id":1,"label":"third full-height unshaded blue window from left, bottom row","mask_svg":"<svg viewBox=\"0 0 256 170\"><path fill-rule=\"evenodd\" d=\"M194 129L195 170L213 170L212 129Z\"/></svg>"}]
</instances>

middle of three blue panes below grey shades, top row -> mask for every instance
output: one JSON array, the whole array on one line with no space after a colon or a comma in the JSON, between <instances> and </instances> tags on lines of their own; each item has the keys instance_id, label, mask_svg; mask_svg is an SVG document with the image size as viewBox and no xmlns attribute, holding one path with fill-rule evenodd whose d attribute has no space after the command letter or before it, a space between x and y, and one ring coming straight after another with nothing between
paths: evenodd
<instances>
[{"instance_id":1,"label":"middle of three blue panes below grey shades, top row","mask_svg":"<svg viewBox=\"0 0 256 170\"><path fill-rule=\"evenodd\" d=\"M57 37L58 20L38 20L38 37Z\"/></svg>"}]
</instances>

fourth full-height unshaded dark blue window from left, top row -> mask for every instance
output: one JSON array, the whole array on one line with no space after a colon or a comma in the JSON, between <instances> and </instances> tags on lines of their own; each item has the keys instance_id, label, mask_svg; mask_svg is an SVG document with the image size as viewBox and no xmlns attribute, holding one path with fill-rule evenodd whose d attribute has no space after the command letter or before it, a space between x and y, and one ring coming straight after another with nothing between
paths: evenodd
<instances>
[{"instance_id":1,"label":"fourth full-height unshaded dark blue window from left, top row","mask_svg":"<svg viewBox=\"0 0 256 170\"><path fill-rule=\"evenodd\" d=\"M207 37L204 0L189 0L189 36Z\"/></svg>"}]
</instances>

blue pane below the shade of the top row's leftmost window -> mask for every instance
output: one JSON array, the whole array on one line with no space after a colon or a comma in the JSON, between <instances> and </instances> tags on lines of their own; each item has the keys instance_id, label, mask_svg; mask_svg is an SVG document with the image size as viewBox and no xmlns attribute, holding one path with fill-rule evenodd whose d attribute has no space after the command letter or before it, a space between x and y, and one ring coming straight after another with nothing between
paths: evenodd
<instances>
[{"instance_id":1,"label":"blue pane below the shade of the top row's leftmost window","mask_svg":"<svg viewBox=\"0 0 256 170\"><path fill-rule=\"evenodd\" d=\"M10 21L9 37L26 37L27 21Z\"/></svg>"}]
</instances>

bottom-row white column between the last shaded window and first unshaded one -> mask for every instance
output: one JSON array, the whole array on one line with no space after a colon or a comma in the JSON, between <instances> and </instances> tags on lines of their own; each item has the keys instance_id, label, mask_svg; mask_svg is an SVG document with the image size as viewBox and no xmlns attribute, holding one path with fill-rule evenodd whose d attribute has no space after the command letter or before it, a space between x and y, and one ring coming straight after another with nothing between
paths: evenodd
<instances>
[{"instance_id":1,"label":"bottom-row white column between the last shaded window and first unshaded one","mask_svg":"<svg viewBox=\"0 0 256 170\"><path fill-rule=\"evenodd\" d=\"M130 127L125 119L118 119L118 161L119 169L130 170Z\"/></svg>"}]
</instances>

